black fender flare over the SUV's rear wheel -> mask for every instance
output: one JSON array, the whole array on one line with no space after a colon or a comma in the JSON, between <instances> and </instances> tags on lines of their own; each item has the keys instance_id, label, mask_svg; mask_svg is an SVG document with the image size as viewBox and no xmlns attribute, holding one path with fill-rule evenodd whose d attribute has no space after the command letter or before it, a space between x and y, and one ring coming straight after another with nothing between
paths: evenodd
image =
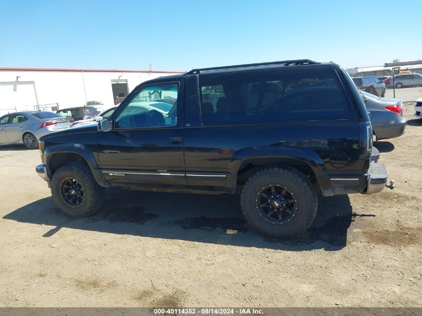
<instances>
[{"instance_id":1,"label":"black fender flare over the SUV's rear wheel","mask_svg":"<svg viewBox=\"0 0 422 316\"><path fill-rule=\"evenodd\" d=\"M333 196L330 177L321 157L310 148L287 147L287 146L263 146L249 147L235 152L229 164L229 170L235 173L231 181L236 186L236 176L242 163L248 160L261 158L295 159L306 163L315 173L318 184L324 196ZM229 180L229 179L228 179Z\"/></svg>"}]
</instances>

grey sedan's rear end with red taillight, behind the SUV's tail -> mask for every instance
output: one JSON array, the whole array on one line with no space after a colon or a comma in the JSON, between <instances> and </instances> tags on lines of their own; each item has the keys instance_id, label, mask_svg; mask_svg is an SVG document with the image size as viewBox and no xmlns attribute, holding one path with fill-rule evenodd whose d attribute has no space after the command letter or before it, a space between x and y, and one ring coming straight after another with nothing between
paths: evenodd
<instances>
[{"instance_id":1,"label":"grey sedan's rear end with red taillight, behind the SUV's tail","mask_svg":"<svg viewBox=\"0 0 422 316\"><path fill-rule=\"evenodd\" d=\"M369 111L376 140L395 138L405 133L407 121L403 117L401 99L382 98L365 91L361 92Z\"/></svg>"}]
</instances>

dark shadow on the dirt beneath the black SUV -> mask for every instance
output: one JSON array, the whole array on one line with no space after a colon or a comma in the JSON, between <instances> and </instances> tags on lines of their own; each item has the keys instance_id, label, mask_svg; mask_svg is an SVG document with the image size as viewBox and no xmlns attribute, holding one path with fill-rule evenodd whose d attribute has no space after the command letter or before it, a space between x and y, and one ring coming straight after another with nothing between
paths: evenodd
<instances>
[{"instance_id":1,"label":"dark shadow on the dirt beneath the black SUV","mask_svg":"<svg viewBox=\"0 0 422 316\"><path fill-rule=\"evenodd\" d=\"M55 209L51 197L25 205L4 216L22 223L178 239L221 245L303 251L340 250L355 216L347 195L320 197L314 223L300 238L268 239L253 232L240 210L238 195L190 195L107 189L104 208L84 219L70 219ZM124 201L124 207L121 205ZM362 215L364 216L364 215Z\"/></svg>"}]
</instances>

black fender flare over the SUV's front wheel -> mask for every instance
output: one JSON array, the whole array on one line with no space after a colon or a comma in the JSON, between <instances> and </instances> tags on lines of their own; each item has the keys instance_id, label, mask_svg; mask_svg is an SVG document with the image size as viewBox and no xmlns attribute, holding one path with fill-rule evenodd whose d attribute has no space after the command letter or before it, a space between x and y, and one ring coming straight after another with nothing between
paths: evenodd
<instances>
[{"instance_id":1,"label":"black fender flare over the SUV's front wheel","mask_svg":"<svg viewBox=\"0 0 422 316\"><path fill-rule=\"evenodd\" d=\"M47 165L47 172L50 177L52 175L48 166L50 165L51 157L53 157L53 155L56 153L72 153L82 156L82 158L85 159L86 163L88 164L89 169L91 169L92 175L94 176L97 183L102 187L109 186L102 176L92 151L88 148L88 146L77 143L54 144L44 149L44 162Z\"/></svg>"}]
</instances>

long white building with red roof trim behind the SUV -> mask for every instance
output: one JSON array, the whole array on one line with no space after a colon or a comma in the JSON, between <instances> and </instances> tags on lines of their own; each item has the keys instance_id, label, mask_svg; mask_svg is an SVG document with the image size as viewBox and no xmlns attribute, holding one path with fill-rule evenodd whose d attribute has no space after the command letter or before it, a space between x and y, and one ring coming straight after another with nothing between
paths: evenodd
<instances>
[{"instance_id":1,"label":"long white building with red roof trim behind the SUV","mask_svg":"<svg viewBox=\"0 0 422 316\"><path fill-rule=\"evenodd\" d=\"M83 106L87 101L101 101L108 108L143 81L183 72L0 67L0 115Z\"/></svg>"}]
</instances>

